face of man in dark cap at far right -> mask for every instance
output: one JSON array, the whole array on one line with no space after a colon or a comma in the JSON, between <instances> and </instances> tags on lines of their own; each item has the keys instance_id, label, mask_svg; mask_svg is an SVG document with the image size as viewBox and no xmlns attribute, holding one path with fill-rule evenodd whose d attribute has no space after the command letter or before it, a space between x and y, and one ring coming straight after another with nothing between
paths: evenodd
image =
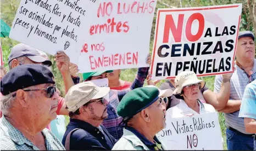
<instances>
[{"instance_id":1,"label":"face of man in dark cap at far right","mask_svg":"<svg viewBox=\"0 0 256 151\"><path fill-rule=\"evenodd\" d=\"M254 59L255 44L251 37L238 39L236 57L240 60Z\"/></svg>"}]
</instances>

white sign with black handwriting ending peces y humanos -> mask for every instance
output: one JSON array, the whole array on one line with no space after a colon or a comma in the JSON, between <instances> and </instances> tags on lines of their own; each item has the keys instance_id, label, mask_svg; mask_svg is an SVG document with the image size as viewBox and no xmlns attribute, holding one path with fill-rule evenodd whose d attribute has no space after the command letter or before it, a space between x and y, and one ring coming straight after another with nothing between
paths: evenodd
<instances>
[{"instance_id":1,"label":"white sign with black handwriting ending peces y humanos","mask_svg":"<svg viewBox=\"0 0 256 151\"><path fill-rule=\"evenodd\" d=\"M9 37L51 55L65 51L77 64L94 1L21 0Z\"/></svg>"}]
</instances>

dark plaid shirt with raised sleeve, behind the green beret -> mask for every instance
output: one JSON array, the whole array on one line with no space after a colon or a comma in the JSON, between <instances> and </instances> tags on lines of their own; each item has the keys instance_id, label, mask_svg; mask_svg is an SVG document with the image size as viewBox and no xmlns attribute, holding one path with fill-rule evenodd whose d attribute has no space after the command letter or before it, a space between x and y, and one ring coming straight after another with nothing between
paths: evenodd
<instances>
[{"instance_id":1,"label":"dark plaid shirt with raised sleeve, behind the green beret","mask_svg":"<svg viewBox=\"0 0 256 151\"><path fill-rule=\"evenodd\" d=\"M148 69L149 67L138 68L136 78L129 89L109 91L110 103L107 106L108 118L103 120L102 124L116 140L119 140L123 136L123 127L119 126L123 118L116 113L116 108L127 92L143 86L144 80L148 74Z\"/></svg>"}]
</instances>

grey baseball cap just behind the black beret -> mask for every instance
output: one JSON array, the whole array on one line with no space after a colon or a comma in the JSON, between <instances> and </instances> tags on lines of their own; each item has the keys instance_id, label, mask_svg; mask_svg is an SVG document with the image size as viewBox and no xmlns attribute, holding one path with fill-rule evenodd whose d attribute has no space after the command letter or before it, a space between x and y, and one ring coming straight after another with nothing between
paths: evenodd
<instances>
[{"instance_id":1,"label":"grey baseball cap just behind the black beret","mask_svg":"<svg viewBox=\"0 0 256 151\"><path fill-rule=\"evenodd\" d=\"M10 51L10 55L8 57L8 64L13 59L21 56L26 56L34 62L42 62L43 65L52 66L52 62L42 57L37 49L23 43L15 45Z\"/></svg>"}]
</instances>

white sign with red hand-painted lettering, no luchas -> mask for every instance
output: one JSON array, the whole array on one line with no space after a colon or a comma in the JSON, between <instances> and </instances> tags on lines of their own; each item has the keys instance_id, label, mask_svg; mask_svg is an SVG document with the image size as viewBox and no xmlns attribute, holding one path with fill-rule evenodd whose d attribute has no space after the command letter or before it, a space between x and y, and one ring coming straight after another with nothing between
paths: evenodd
<instances>
[{"instance_id":1,"label":"white sign with red hand-painted lettering, no luchas","mask_svg":"<svg viewBox=\"0 0 256 151\"><path fill-rule=\"evenodd\" d=\"M157 0L99 0L98 9L90 10L90 28L86 28L81 47L81 72L148 67L154 10ZM80 66L85 65L86 66Z\"/></svg>"}]
</instances>

